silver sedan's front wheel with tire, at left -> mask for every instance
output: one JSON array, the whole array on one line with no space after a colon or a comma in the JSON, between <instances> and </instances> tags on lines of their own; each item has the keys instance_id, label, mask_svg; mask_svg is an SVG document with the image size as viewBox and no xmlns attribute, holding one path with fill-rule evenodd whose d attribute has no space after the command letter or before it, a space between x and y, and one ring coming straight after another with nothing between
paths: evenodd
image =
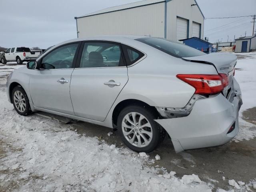
<instances>
[{"instance_id":1,"label":"silver sedan's front wheel with tire, at left","mask_svg":"<svg viewBox=\"0 0 256 192\"><path fill-rule=\"evenodd\" d=\"M28 116L30 114L28 96L22 87L16 86L12 90L12 104L18 114L22 116Z\"/></svg>"}]
</instances>

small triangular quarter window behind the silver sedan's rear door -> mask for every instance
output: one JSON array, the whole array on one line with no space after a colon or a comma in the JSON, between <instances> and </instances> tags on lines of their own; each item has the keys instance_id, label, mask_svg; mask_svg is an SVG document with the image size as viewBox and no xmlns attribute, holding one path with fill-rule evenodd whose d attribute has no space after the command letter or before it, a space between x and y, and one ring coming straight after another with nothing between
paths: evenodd
<instances>
[{"instance_id":1,"label":"small triangular quarter window behind the silver sedan's rear door","mask_svg":"<svg viewBox=\"0 0 256 192\"><path fill-rule=\"evenodd\" d=\"M127 66L134 64L144 56L144 53L132 47L129 47L127 45L122 45L122 48L124 51L124 57L125 57Z\"/></svg>"}]
</instances>

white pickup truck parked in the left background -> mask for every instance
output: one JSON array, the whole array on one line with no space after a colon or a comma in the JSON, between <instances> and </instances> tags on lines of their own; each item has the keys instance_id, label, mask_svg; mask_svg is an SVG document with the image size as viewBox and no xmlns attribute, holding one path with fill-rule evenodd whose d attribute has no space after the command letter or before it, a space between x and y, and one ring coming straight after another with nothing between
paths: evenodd
<instances>
[{"instance_id":1,"label":"white pickup truck parked in the left background","mask_svg":"<svg viewBox=\"0 0 256 192\"><path fill-rule=\"evenodd\" d=\"M2 64L6 62L16 61L18 64L22 64L24 61L36 60L41 52L30 51L27 47L13 47L8 48L4 54L2 54L0 61Z\"/></svg>"}]
</instances>

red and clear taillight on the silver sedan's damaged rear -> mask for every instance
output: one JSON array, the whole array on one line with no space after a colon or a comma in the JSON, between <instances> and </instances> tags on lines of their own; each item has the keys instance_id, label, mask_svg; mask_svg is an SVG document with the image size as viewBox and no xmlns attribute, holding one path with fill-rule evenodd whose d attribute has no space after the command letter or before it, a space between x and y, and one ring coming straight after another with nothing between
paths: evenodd
<instances>
[{"instance_id":1,"label":"red and clear taillight on the silver sedan's damaged rear","mask_svg":"<svg viewBox=\"0 0 256 192\"><path fill-rule=\"evenodd\" d=\"M214 94L224 89L220 75L178 74L177 78L193 86L195 94Z\"/></svg>"}]
</instances>

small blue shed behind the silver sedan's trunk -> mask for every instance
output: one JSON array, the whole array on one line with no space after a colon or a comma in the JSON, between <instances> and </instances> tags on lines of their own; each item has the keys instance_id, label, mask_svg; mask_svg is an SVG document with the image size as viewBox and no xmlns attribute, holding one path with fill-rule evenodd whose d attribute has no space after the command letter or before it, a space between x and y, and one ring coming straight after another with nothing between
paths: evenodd
<instances>
[{"instance_id":1,"label":"small blue shed behind the silver sedan's trunk","mask_svg":"<svg viewBox=\"0 0 256 192\"><path fill-rule=\"evenodd\" d=\"M183 41L184 44L193 47L195 49L198 49L200 51L203 51L205 53L211 53L213 44L209 43L208 41L204 41L198 37L192 37L188 39L182 39L180 41Z\"/></svg>"}]
</instances>

